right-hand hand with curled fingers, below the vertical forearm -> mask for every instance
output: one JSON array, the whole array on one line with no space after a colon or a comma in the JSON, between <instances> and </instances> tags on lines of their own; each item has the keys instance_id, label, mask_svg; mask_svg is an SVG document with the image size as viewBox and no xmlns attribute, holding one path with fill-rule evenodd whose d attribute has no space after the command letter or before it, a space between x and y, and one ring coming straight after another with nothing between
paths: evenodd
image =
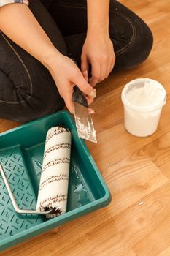
<instances>
[{"instance_id":1,"label":"right-hand hand with curled fingers, below the vertical forearm","mask_svg":"<svg viewBox=\"0 0 170 256\"><path fill-rule=\"evenodd\" d=\"M108 77L115 64L115 52L109 34L88 34L82 48L82 74L87 80L88 64L91 64L91 86Z\"/></svg>"}]
</instances>

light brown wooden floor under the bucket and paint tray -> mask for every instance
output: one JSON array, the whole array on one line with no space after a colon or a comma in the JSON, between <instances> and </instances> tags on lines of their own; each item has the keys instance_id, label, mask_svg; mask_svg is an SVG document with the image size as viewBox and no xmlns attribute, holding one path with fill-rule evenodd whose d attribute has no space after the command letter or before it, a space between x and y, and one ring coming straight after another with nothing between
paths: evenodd
<instances>
[{"instance_id":1,"label":"light brown wooden floor under the bucket and paint tray","mask_svg":"<svg viewBox=\"0 0 170 256\"><path fill-rule=\"evenodd\" d=\"M140 67L98 85L93 107L98 144L88 143L112 203L1 255L170 255L170 0L122 0L150 25L154 48ZM168 94L158 131L148 138L123 127L120 92L134 78L152 78ZM0 120L0 132L18 124Z\"/></svg>"}]
</instances>

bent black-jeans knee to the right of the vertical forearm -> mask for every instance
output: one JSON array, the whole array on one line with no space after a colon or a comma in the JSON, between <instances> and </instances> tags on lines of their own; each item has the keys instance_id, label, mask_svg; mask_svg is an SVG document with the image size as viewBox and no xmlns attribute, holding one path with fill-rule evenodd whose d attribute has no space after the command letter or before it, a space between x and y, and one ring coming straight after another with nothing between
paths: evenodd
<instances>
[{"instance_id":1,"label":"bent black-jeans knee to the right of the vertical forearm","mask_svg":"<svg viewBox=\"0 0 170 256\"><path fill-rule=\"evenodd\" d=\"M153 43L152 32L139 16L123 4L112 0L110 9L113 19L110 20L110 36L116 54L115 70L131 69L149 56Z\"/></svg>"}]
</instances>

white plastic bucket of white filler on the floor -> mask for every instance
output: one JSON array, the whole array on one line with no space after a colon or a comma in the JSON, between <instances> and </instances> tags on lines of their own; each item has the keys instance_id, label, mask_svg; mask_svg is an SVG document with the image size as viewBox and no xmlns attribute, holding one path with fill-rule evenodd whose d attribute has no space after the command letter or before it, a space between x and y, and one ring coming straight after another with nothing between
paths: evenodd
<instances>
[{"instance_id":1,"label":"white plastic bucket of white filler on the floor","mask_svg":"<svg viewBox=\"0 0 170 256\"><path fill-rule=\"evenodd\" d=\"M152 135L158 127L161 110L166 103L166 90L161 83L149 78L132 80L123 88L121 98L125 129L139 137Z\"/></svg>"}]
</instances>

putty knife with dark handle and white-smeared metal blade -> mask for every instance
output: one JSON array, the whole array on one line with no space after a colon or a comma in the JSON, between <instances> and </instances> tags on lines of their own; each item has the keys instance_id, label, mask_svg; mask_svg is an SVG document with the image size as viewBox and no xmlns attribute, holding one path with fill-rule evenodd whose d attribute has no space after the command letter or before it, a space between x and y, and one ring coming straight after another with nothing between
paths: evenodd
<instances>
[{"instance_id":1,"label":"putty knife with dark handle and white-smeared metal blade","mask_svg":"<svg viewBox=\"0 0 170 256\"><path fill-rule=\"evenodd\" d=\"M97 143L96 131L94 129L93 120L88 110L87 99L85 99L82 91L80 91L77 86L74 86L73 101L74 118L78 136L85 140L90 140L94 143Z\"/></svg>"}]
</instances>

